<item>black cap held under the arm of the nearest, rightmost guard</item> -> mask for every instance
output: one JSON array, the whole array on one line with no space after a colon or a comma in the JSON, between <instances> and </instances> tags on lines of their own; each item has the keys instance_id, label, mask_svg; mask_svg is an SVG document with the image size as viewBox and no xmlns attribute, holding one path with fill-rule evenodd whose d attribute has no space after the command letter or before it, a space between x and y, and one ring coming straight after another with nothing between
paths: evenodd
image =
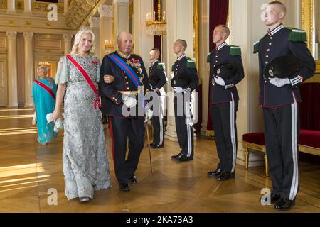
<instances>
[{"instance_id":1,"label":"black cap held under the arm of the nearest, rightmost guard","mask_svg":"<svg viewBox=\"0 0 320 227\"><path fill-rule=\"evenodd\" d=\"M264 75L266 78L287 78L291 77L299 68L302 61L293 56L276 57L266 67Z\"/></svg>"}]
</instances>

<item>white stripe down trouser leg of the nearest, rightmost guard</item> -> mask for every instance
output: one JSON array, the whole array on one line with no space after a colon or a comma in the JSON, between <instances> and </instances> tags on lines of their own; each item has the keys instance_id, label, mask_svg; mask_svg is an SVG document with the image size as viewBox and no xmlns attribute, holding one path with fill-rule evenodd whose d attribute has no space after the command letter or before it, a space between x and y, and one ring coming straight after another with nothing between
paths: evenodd
<instances>
[{"instance_id":1,"label":"white stripe down trouser leg of the nearest, rightmost guard","mask_svg":"<svg viewBox=\"0 0 320 227\"><path fill-rule=\"evenodd\" d=\"M299 170L298 170L298 145L297 145L297 116L298 108L297 102L291 104L292 109L292 159L293 159L293 176L292 184L289 194L289 199L293 200L297 196L298 184L299 184Z\"/></svg>"}]
</instances>

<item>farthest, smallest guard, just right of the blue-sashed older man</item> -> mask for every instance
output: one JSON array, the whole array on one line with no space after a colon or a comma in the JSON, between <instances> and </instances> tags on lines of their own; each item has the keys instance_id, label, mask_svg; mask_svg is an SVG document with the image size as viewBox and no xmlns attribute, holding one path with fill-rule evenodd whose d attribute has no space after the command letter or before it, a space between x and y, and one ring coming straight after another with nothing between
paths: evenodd
<instances>
[{"instance_id":1,"label":"farthest, smallest guard, just right of the blue-sashed older man","mask_svg":"<svg viewBox=\"0 0 320 227\"><path fill-rule=\"evenodd\" d=\"M159 49L154 48L150 51L149 58L152 62L149 67L149 82L152 90L158 96L158 99L154 100L156 108L153 108L158 113L153 113L154 116L151 118L152 126L154 126L154 141L150 145L151 148L164 147L164 99L166 98L164 85L168 82L168 78L166 77L164 63L158 60L159 56Z\"/></svg>"}]
</instances>

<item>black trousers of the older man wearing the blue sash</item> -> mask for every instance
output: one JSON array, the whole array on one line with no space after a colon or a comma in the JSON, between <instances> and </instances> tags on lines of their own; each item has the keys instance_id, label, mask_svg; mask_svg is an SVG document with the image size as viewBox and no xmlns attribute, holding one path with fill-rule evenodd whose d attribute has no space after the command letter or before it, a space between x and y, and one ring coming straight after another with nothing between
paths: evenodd
<instances>
[{"instance_id":1,"label":"black trousers of the older man wearing the blue sash","mask_svg":"<svg viewBox=\"0 0 320 227\"><path fill-rule=\"evenodd\" d=\"M120 184L128 182L137 170L140 153L144 148L144 118L110 116L114 171ZM127 143L129 152L126 160Z\"/></svg>"}]
</instances>

